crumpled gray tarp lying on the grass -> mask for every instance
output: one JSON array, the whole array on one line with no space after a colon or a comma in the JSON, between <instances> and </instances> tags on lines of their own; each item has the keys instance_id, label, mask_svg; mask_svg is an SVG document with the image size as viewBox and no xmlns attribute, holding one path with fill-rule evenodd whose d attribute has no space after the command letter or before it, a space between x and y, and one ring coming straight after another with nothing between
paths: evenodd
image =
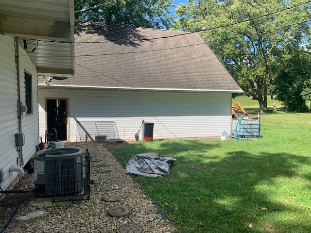
<instances>
[{"instance_id":1,"label":"crumpled gray tarp lying on the grass","mask_svg":"<svg viewBox=\"0 0 311 233\"><path fill-rule=\"evenodd\" d=\"M173 157L160 157L155 153L136 154L126 165L126 173L142 176L167 176L170 166L177 161Z\"/></svg>"}]
</instances>

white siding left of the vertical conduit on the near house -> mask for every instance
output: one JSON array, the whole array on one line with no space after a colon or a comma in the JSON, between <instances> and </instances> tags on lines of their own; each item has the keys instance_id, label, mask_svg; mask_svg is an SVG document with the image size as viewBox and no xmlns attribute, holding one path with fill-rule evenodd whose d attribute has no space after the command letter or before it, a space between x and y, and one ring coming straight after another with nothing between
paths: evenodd
<instances>
[{"instance_id":1,"label":"white siding left of the vertical conduit on the near house","mask_svg":"<svg viewBox=\"0 0 311 233\"><path fill-rule=\"evenodd\" d=\"M0 168L3 169L6 188L15 177L10 177L9 167L16 165L18 153L15 133L18 133L17 75L14 37L0 35Z\"/></svg>"}]
</instances>

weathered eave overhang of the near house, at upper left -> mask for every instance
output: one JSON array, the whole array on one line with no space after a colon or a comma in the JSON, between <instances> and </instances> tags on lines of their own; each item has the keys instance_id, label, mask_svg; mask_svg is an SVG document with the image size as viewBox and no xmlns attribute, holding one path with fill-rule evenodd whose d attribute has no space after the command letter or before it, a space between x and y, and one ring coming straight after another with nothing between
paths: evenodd
<instances>
[{"instance_id":1,"label":"weathered eave overhang of the near house, at upper left","mask_svg":"<svg viewBox=\"0 0 311 233\"><path fill-rule=\"evenodd\" d=\"M0 34L17 36L22 47L24 39L37 40L36 50L28 55L41 75L74 73L74 0L63 3L49 11L40 0L0 0Z\"/></svg>"}]
</instances>

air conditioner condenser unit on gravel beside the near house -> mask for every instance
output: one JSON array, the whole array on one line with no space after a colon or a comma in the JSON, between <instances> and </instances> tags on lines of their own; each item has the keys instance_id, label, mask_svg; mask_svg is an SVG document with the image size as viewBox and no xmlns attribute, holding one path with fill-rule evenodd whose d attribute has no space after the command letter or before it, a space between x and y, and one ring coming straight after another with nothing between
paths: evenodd
<instances>
[{"instance_id":1,"label":"air conditioner condenser unit on gravel beside the near house","mask_svg":"<svg viewBox=\"0 0 311 233\"><path fill-rule=\"evenodd\" d=\"M83 191L83 152L79 148L39 150L34 156L37 198L64 197Z\"/></svg>"}]
</instances>

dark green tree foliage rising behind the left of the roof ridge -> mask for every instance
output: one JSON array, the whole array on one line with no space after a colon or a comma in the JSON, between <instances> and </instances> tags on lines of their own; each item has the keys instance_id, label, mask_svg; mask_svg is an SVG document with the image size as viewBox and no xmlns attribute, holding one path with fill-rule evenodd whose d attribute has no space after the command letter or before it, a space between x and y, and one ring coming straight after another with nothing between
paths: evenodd
<instances>
[{"instance_id":1,"label":"dark green tree foliage rising behind the left of the roof ridge","mask_svg":"<svg viewBox=\"0 0 311 233\"><path fill-rule=\"evenodd\" d=\"M74 0L75 19L148 28L169 28L171 6L173 0Z\"/></svg>"}]
</instances>

